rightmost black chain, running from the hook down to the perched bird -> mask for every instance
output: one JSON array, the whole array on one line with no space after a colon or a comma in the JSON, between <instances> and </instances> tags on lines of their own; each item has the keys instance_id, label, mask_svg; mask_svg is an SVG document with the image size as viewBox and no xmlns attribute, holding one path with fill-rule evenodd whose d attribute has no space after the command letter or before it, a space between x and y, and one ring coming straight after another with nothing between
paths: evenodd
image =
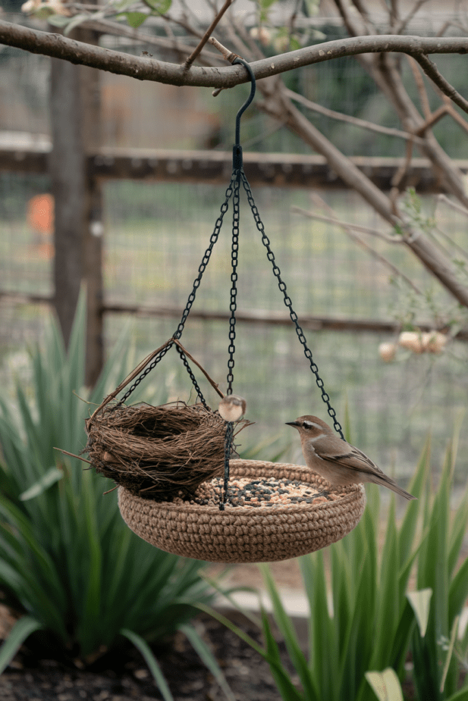
<instances>
[{"instance_id":1,"label":"rightmost black chain, running from the hook down to the perched bird","mask_svg":"<svg viewBox=\"0 0 468 701\"><path fill-rule=\"evenodd\" d=\"M248 203L250 205L250 209L252 210L253 218L255 219L255 224L257 225L258 231L262 234L262 243L267 249L267 258L272 264L273 268L273 274L278 280L278 287L283 293L284 297L284 304L288 307L289 310L289 315L291 318L291 321L295 325L295 332L297 334L297 338L299 339L300 343L302 343L302 346L304 348L304 355L309 360L310 363L310 369L315 375L315 381L317 384L317 387L321 391L322 394L322 399L323 402L328 407L328 415L330 418L333 418L333 426L335 427L335 431L340 434L343 440L345 440L345 436L343 435L342 431L342 426L340 422L336 418L336 411L333 409L332 405L330 404L330 396L326 393L325 388L323 386L323 380L321 379L321 376L319 375L319 368L317 367L316 363L314 362L314 358L312 358L312 351L310 350L309 346L307 346L307 341L305 338L305 334L302 331L302 328L299 325L299 322L297 321L297 314L293 310L293 302L291 301L288 293L286 292L286 283L283 283L283 280L281 279L281 271L279 267L276 265L275 259L274 259L274 253L272 251L272 248L270 246L269 238L267 234L265 233L265 226L263 226L262 219L260 219L260 215L258 213L258 209L255 205L255 202L253 200L253 195L252 191L250 190L250 185L248 184L248 180L246 178L246 174L241 170L241 177L242 177L242 184L243 184L243 189L246 191L247 194L247 199Z\"/></svg>"}]
</instances>

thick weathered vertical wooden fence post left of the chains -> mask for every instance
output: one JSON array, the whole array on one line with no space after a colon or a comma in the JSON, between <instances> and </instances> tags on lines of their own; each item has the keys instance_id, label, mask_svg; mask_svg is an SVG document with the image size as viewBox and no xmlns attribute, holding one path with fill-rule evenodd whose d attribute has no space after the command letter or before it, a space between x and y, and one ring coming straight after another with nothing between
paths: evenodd
<instances>
[{"instance_id":1,"label":"thick weathered vertical wooden fence post left of the chains","mask_svg":"<svg viewBox=\"0 0 468 701\"><path fill-rule=\"evenodd\" d=\"M93 35L74 38L96 43ZM85 381L92 386L103 362L102 191L87 159L100 145L99 72L52 59L50 107L55 309L68 346L80 286L86 283Z\"/></svg>"}]
</instances>

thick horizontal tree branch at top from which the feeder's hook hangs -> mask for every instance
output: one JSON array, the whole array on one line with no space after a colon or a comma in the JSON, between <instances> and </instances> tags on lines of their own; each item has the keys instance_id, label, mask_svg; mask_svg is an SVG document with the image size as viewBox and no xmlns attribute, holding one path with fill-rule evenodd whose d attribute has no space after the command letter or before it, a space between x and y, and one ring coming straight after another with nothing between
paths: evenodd
<instances>
[{"instance_id":1,"label":"thick horizontal tree branch at top from which the feeder's hook hangs","mask_svg":"<svg viewBox=\"0 0 468 701\"><path fill-rule=\"evenodd\" d=\"M30 53L61 58L71 63L83 64L112 73L131 76L138 80L171 83L176 86L202 86L205 88L233 88L250 79L242 66L205 68L194 66L184 71L178 64L156 61L91 46L81 41L67 39L61 34L41 32L0 20L0 43L16 46ZM441 88L459 107L468 112L468 102L450 86L425 54L468 53L467 37L352 36L349 39L326 41L286 54L254 61L251 65L256 79L275 76L285 71L343 56L366 53L398 52L414 56L429 78Z\"/></svg>"}]
</instances>

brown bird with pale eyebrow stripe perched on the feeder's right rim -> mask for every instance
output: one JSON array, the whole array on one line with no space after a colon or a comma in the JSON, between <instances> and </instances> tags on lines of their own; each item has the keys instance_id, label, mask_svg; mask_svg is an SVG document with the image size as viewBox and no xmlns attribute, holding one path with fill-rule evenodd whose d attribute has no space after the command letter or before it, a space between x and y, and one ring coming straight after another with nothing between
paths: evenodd
<instances>
[{"instance_id":1,"label":"brown bird with pale eyebrow stripe perched on the feeder's right rim","mask_svg":"<svg viewBox=\"0 0 468 701\"><path fill-rule=\"evenodd\" d=\"M321 418L300 416L296 421L288 421L287 426L294 426L299 431L307 467L328 479L332 486L373 482L406 499L416 498L387 477L362 451L337 436Z\"/></svg>"}]
</instances>

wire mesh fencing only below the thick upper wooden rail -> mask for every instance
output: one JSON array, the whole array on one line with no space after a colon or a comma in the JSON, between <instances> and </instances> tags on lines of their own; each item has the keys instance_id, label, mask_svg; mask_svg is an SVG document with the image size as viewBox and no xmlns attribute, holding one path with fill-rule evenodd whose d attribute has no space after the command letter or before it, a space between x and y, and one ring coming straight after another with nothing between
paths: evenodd
<instances>
[{"instance_id":1,"label":"wire mesh fencing only below the thick upper wooden rail","mask_svg":"<svg viewBox=\"0 0 468 701\"><path fill-rule=\"evenodd\" d=\"M26 217L32 185L6 176L0 179L1 196L8 201L14 191L17 203L2 223L2 292L52 294L53 250L44 248L44 237L37 239ZM107 314L107 351L131 317L127 332L135 365L175 332L224 193L225 186L135 182L109 182L105 186L105 302L166 310L163 317ZM410 292L407 299L405 294L397 294L385 266L359 250L340 229L291 212L293 205L311 208L309 193L259 188L253 194L298 315L393 320L400 306L406 301L410 304ZM375 215L352 194L322 195L337 217L379 226ZM430 209L432 200L425 204ZM194 311L229 311L231 216L229 209ZM458 215L445 212L443 222L462 244L464 229ZM239 312L279 313L288 320L245 198L241 198L240 231ZM384 250L384 244L381 248ZM434 287L429 274L407 252L387 247L385 254L422 289ZM439 304L444 303L450 301L440 293ZM4 298L0 317L1 374L5 378L20 372L25 346L40 340L47 314L44 308L13 305ZM223 390L227 387L228 330L227 320L189 316L181 339ZM396 475L410 475L429 431L436 454L440 454L457 412L467 402L464 343L453 341L441 356L401 352L396 361L385 364L378 346L381 341L395 340L388 334L311 329L305 334L340 420L345 407L349 408L352 437L361 449L386 470L394 465ZM246 397L248 418L255 421L255 426L243 433L243 448L265 442L265 456L283 447L286 458L302 462L296 437L290 436L284 422L301 414L327 415L293 325L238 322L235 345L234 392ZM217 396L206 387L203 376L198 371L196 374L215 407ZM168 354L145 383L156 396L194 400L192 384L175 353ZM465 443L463 437L463 447ZM460 457L462 472L466 472L464 451Z\"/></svg>"}]
</instances>

